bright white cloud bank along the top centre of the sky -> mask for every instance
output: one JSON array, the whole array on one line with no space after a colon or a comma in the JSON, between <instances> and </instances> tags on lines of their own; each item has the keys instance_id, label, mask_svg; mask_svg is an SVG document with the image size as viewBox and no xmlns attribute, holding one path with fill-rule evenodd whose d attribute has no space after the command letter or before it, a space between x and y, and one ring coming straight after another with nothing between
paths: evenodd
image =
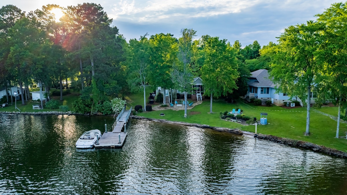
<instances>
[{"instance_id":1,"label":"bright white cloud bank along the top centre of the sky","mask_svg":"<svg viewBox=\"0 0 347 195\"><path fill-rule=\"evenodd\" d=\"M157 23L167 22L168 18L176 20L238 13L260 2L261 0L121 0L114 5L110 16L122 21Z\"/></svg>"}]
</instances>

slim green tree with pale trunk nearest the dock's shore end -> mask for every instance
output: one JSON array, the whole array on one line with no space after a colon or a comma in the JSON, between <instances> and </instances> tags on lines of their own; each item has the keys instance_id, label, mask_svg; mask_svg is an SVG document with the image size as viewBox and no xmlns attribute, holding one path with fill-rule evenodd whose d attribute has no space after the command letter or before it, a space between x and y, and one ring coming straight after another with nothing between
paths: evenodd
<instances>
[{"instance_id":1,"label":"slim green tree with pale trunk nearest the dock's shore end","mask_svg":"<svg viewBox=\"0 0 347 195\"><path fill-rule=\"evenodd\" d=\"M130 57L127 65L129 67L128 85L133 92L143 89L143 103L146 111L146 85L147 85L147 67L150 58L150 43L146 38L147 34L141 36L140 40L130 39Z\"/></svg>"}]
</instances>

